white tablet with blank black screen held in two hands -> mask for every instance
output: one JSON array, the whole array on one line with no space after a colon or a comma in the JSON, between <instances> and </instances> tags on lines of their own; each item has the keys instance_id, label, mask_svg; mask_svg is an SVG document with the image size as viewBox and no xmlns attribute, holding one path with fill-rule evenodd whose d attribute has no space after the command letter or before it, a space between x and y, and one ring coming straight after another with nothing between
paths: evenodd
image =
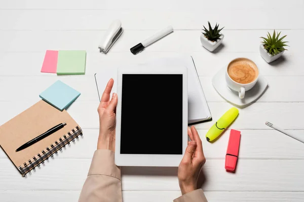
<instances>
[{"instance_id":1,"label":"white tablet with blank black screen held in two hands","mask_svg":"<svg viewBox=\"0 0 304 202\"><path fill-rule=\"evenodd\" d=\"M115 163L178 166L187 146L187 69L118 69Z\"/></svg>"}]
</instances>

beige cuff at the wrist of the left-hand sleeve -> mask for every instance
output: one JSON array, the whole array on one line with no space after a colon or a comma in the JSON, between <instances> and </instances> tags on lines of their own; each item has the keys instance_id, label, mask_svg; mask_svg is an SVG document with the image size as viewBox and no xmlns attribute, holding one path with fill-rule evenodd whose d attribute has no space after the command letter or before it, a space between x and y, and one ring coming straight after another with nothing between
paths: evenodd
<instances>
[{"instance_id":1,"label":"beige cuff at the wrist of the left-hand sleeve","mask_svg":"<svg viewBox=\"0 0 304 202\"><path fill-rule=\"evenodd\" d=\"M115 165L115 153L108 149L95 151L89 175L107 175L121 180L120 168Z\"/></svg>"}]
</instances>

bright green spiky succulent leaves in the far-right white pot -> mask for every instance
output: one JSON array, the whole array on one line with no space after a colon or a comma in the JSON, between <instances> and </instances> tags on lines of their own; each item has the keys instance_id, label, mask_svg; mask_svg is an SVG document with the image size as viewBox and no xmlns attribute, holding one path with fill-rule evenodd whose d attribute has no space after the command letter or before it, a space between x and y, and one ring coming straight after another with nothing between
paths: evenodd
<instances>
[{"instance_id":1,"label":"bright green spiky succulent leaves in the far-right white pot","mask_svg":"<svg viewBox=\"0 0 304 202\"><path fill-rule=\"evenodd\" d=\"M284 46L288 46L285 43L287 43L288 41L283 41L283 39L287 36L282 36L281 38L279 38L281 32L276 34L276 30L274 30L273 36L270 35L270 33L268 32L267 38L265 37L260 37L263 39L263 41L261 41L264 46L264 48L267 50L267 52L274 56L277 55L279 53L281 53L284 50L287 50L284 48Z\"/></svg>"}]
</instances>

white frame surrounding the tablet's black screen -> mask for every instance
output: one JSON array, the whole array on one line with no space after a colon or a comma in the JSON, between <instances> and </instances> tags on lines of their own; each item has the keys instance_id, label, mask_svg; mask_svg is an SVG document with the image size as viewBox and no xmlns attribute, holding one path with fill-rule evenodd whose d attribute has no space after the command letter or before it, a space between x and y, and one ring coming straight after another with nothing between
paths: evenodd
<instances>
[{"instance_id":1,"label":"white frame surrounding the tablet's black screen","mask_svg":"<svg viewBox=\"0 0 304 202\"><path fill-rule=\"evenodd\" d=\"M121 102L122 102L122 78L123 74L182 74L182 154L181 155L138 155L120 154L121 145ZM188 134L188 93L187 93L187 68L185 67L155 67L137 66L132 68L119 68L117 79L118 105L116 110L116 145L115 164L118 166L162 166L178 167L187 147ZM144 110L144 109L141 109ZM161 141L161 139L160 139ZM170 143L170 142L168 142Z\"/></svg>"}]
</instances>

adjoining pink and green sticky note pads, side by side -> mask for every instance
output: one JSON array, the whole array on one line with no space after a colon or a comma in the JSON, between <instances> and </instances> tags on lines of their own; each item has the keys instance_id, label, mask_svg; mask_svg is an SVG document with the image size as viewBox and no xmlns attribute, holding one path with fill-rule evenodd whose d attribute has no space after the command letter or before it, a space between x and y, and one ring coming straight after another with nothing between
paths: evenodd
<instances>
[{"instance_id":1,"label":"adjoining pink and green sticky note pads, side by side","mask_svg":"<svg viewBox=\"0 0 304 202\"><path fill-rule=\"evenodd\" d=\"M86 51L47 50L41 72L57 75L85 74Z\"/></svg>"}]
</instances>

